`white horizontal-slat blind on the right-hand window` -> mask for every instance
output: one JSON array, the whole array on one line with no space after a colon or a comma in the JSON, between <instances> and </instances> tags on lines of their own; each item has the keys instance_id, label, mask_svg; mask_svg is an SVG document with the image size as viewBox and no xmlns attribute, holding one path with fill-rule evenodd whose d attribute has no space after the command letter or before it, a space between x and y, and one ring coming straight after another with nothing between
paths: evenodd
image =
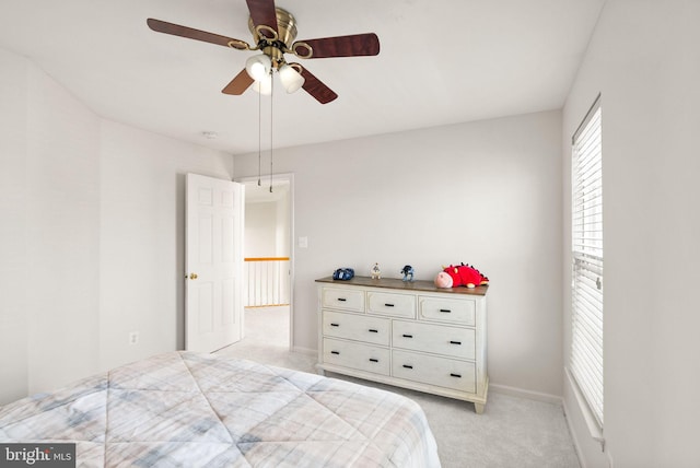
<instances>
[{"instance_id":1,"label":"white horizontal-slat blind on the right-hand window","mask_svg":"<svg viewBox=\"0 0 700 468\"><path fill-rule=\"evenodd\" d=\"M572 139L570 371L603 428L603 151L600 97Z\"/></svg>"}]
</instances>

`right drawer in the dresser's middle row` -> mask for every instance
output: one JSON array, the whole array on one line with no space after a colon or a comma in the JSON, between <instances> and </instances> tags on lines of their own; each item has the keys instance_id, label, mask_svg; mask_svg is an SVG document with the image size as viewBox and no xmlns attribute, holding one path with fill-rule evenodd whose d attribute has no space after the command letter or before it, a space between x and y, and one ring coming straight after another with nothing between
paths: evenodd
<instances>
[{"instance_id":1,"label":"right drawer in the dresser's middle row","mask_svg":"<svg viewBox=\"0 0 700 468\"><path fill-rule=\"evenodd\" d=\"M394 320L392 346L460 359L474 359L476 354L472 328L416 321Z\"/></svg>"}]
</instances>

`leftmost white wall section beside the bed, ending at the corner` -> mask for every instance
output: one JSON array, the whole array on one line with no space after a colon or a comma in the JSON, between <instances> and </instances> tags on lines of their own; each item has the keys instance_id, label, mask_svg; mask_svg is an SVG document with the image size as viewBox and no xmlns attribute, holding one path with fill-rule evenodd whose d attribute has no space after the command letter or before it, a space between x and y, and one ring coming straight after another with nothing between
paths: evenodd
<instances>
[{"instance_id":1,"label":"leftmost white wall section beside the bed, ending at the corner","mask_svg":"<svg viewBox=\"0 0 700 468\"><path fill-rule=\"evenodd\" d=\"M0 52L0 400L97 366L97 119ZM7 361L7 363L5 363Z\"/></svg>"}]
</instances>

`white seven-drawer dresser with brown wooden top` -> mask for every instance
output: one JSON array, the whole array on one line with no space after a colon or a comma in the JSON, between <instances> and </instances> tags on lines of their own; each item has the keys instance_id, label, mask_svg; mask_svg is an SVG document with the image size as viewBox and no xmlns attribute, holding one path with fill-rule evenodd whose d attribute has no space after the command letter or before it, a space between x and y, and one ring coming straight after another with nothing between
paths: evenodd
<instances>
[{"instance_id":1,"label":"white seven-drawer dresser with brown wooden top","mask_svg":"<svg viewBox=\"0 0 700 468\"><path fill-rule=\"evenodd\" d=\"M318 364L369 381L486 405L486 292L430 281L316 280Z\"/></svg>"}]
</instances>

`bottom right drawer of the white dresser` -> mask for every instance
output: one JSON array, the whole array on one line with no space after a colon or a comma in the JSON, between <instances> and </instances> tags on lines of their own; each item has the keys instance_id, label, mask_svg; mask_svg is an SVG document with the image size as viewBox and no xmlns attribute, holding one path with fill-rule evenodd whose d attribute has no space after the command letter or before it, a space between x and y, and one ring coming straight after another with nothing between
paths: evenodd
<instances>
[{"instance_id":1,"label":"bottom right drawer of the white dresser","mask_svg":"<svg viewBox=\"0 0 700 468\"><path fill-rule=\"evenodd\" d=\"M394 350L392 376L459 391L476 391L476 366L472 362Z\"/></svg>"}]
</instances>

